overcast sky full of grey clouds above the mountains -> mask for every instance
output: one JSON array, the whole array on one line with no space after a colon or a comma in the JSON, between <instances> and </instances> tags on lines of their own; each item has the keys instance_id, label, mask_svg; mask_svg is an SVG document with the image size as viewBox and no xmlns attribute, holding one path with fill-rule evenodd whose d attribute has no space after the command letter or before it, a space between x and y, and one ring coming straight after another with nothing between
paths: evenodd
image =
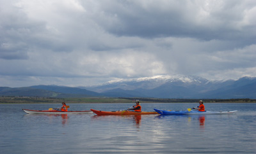
<instances>
[{"instance_id":1,"label":"overcast sky full of grey clouds above the mountains","mask_svg":"<svg viewBox=\"0 0 256 154\"><path fill-rule=\"evenodd\" d=\"M256 76L255 0L0 0L0 87Z\"/></svg>"}]
</instances>

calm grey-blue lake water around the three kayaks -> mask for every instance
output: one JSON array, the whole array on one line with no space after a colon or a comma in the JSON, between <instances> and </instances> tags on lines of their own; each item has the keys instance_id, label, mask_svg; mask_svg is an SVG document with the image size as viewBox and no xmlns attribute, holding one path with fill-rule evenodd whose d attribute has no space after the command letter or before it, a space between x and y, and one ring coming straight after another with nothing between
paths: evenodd
<instances>
[{"instance_id":1,"label":"calm grey-blue lake water around the three kayaks","mask_svg":"<svg viewBox=\"0 0 256 154\"><path fill-rule=\"evenodd\" d=\"M70 111L116 111L134 104L68 104ZM147 104L143 111L198 103ZM256 104L205 103L234 115L31 115L60 104L0 104L0 153L256 153Z\"/></svg>"}]
</instances>

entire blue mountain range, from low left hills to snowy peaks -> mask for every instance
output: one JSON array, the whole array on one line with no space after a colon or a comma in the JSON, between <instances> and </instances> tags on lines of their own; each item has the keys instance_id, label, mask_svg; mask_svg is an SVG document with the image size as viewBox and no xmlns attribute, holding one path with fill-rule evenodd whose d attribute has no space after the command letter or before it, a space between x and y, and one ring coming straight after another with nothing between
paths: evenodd
<instances>
[{"instance_id":1,"label":"entire blue mountain range, from low left hills to snowy peaks","mask_svg":"<svg viewBox=\"0 0 256 154\"><path fill-rule=\"evenodd\" d=\"M0 87L3 96L29 97L152 97L168 99L256 99L256 78L210 81L198 76L154 76L109 81L91 87L36 85Z\"/></svg>"}]
</instances>

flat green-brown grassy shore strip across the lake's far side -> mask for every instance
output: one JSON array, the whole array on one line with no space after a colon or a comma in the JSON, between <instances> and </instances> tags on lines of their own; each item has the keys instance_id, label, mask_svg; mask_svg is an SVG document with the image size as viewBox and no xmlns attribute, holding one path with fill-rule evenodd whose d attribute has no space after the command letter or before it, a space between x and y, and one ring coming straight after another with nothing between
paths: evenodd
<instances>
[{"instance_id":1,"label":"flat green-brown grassy shore strip across the lake's far side","mask_svg":"<svg viewBox=\"0 0 256 154\"><path fill-rule=\"evenodd\" d=\"M142 103L196 103L200 99L157 99L157 98L49 98L49 97L0 97L0 104L107 104L133 103L140 100ZM256 99L202 99L204 103L256 103Z\"/></svg>"}]
</instances>

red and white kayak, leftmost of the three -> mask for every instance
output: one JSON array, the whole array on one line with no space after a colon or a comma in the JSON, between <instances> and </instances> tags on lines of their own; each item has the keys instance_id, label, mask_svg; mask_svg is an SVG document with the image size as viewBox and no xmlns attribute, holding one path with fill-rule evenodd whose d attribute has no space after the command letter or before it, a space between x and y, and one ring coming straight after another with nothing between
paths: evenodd
<instances>
[{"instance_id":1,"label":"red and white kayak, leftmost of the three","mask_svg":"<svg viewBox=\"0 0 256 154\"><path fill-rule=\"evenodd\" d=\"M55 109L52 109L52 110L22 109L22 110L26 113L33 113L33 114L67 114L67 113L86 114L86 113L92 113L92 111L58 111Z\"/></svg>"}]
</instances>

